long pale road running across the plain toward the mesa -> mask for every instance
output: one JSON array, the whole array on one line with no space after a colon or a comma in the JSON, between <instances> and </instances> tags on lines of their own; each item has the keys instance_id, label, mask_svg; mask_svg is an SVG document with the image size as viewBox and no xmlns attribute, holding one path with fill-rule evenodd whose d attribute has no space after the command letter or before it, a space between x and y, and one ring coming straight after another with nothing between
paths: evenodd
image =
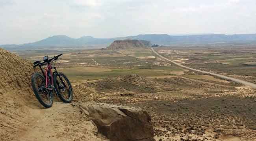
<instances>
[{"instance_id":1,"label":"long pale road running across the plain toward the mesa","mask_svg":"<svg viewBox=\"0 0 256 141\"><path fill-rule=\"evenodd\" d=\"M211 75L215 75L215 76L218 76L218 77L221 77L221 78L224 78L224 79L228 79L228 80L231 80L231 81L234 81L234 82L238 82L238 83L241 83L241 84L244 84L246 86L249 86L251 88L256 88L256 84L253 84L251 82L247 82L247 81L243 81L243 80L240 80L240 79L236 79L236 78L232 78L232 77L228 77L228 76L225 76L225 75L220 75L220 74L217 74L217 73L211 73L211 72L208 72L208 71L202 71L202 70L197 70L197 69L193 69L193 68L190 68L190 67L187 67L187 66L183 66L182 64L180 63L177 63L173 60L170 60L170 59L167 59L163 56L161 56L160 54L158 54L153 48L151 48L152 51L154 53L156 53L156 55L158 55L159 57L161 57L162 59L165 59L167 61L170 61L172 62L173 64L176 64L177 66L180 66L182 68L185 68L185 69L188 69L188 70L193 70L193 71L198 71L198 72L201 72L201 73L208 73L208 74L211 74Z\"/></svg>"}]
</instances>

